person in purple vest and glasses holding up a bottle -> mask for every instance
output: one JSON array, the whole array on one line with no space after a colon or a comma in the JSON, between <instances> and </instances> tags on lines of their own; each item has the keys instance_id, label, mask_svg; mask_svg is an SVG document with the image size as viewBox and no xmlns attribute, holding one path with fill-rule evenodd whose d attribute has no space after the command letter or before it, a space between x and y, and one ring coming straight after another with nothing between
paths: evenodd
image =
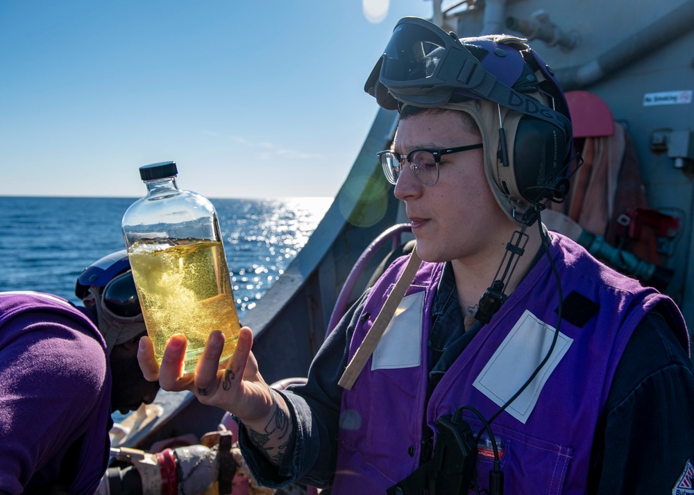
<instances>
[{"instance_id":1,"label":"person in purple vest and glasses holding up a bottle","mask_svg":"<svg viewBox=\"0 0 694 495\"><path fill-rule=\"evenodd\" d=\"M694 378L679 309L543 227L580 159L550 68L525 40L459 40L406 17L365 89L400 113L379 157L412 222L412 255L348 311L305 385L269 388L248 328L221 368L213 332L194 374L180 372L183 336L161 367L144 338L145 376L235 415L248 465L271 487L691 487Z\"/></svg>"}]
</instances>

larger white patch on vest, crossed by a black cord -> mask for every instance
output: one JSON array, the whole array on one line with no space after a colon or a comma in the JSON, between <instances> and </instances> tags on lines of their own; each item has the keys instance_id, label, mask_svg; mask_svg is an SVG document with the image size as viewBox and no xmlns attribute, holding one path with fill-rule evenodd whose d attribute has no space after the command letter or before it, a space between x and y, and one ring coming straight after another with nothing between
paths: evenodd
<instances>
[{"instance_id":1,"label":"larger white patch on vest, crossed by a black cord","mask_svg":"<svg viewBox=\"0 0 694 495\"><path fill-rule=\"evenodd\" d=\"M530 378L550 350L554 336L554 327L542 322L526 309L477 376L473 386L498 406L502 406ZM511 416L523 424L527 422L542 388L572 342L572 338L559 332L552 356L530 385L506 408Z\"/></svg>"}]
</instances>

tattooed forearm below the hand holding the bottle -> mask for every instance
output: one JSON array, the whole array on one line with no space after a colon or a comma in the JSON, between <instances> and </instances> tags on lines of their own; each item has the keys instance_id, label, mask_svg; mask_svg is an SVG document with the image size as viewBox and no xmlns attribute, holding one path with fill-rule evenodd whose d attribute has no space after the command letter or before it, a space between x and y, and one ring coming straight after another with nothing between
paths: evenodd
<instances>
[{"instance_id":1,"label":"tattooed forearm below the hand holding the bottle","mask_svg":"<svg viewBox=\"0 0 694 495\"><path fill-rule=\"evenodd\" d=\"M273 403L270 414L259 421L244 422L244 427L253 446L272 464L279 466L287 452L294 428L285 399L275 390L271 390L271 394Z\"/></svg>"}]
</instances>

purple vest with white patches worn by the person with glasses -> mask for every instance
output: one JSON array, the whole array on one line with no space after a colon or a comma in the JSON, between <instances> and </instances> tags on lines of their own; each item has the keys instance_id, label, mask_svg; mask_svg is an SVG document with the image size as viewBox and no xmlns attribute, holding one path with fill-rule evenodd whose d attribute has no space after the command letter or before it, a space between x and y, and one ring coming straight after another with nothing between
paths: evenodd
<instances>
[{"instance_id":1,"label":"purple vest with white patches worn by the person with glasses","mask_svg":"<svg viewBox=\"0 0 694 495\"><path fill-rule=\"evenodd\" d=\"M491 424L507 493L583 494L593 432L629 337L655 306L688 351L686 326L668 297L595 261L552 232L550 253L564 304L546 256L462 351L426 401L428 335L442 263L422 263L396 315L352 390L342 395L335 494L384 494L418 467L423 418L434 431L442 415L472 406L489 419L541 372ZM398 259L373 286L351 358L404 270ZM362 321L360 320L360 321ZM477 434L482 422L464 419ZM435 448L435 447L434 447ZM477 449L477 484L487 489L493 456L484 432ZM474 493L474 490L471 490Z\"/></svg>"}]
</instances>

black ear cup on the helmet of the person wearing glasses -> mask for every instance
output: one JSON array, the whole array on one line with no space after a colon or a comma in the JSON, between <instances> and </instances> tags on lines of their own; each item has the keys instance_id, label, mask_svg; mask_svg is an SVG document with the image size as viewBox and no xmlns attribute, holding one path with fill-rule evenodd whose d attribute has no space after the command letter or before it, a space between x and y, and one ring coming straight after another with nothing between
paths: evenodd
<instances>
[{"instance_id":1,"label":"black ear cup on the helmet of the person wearing glasses","mask_svg":"<svg viewBox=\"0 0 694 495\"><path fill-rule=\"evenodd\" d=\"M523 199L536 203L566 196L569 139L548 121L521 117L514 139L513 164L516 186Z\"/></svg>"}]
</instances>

